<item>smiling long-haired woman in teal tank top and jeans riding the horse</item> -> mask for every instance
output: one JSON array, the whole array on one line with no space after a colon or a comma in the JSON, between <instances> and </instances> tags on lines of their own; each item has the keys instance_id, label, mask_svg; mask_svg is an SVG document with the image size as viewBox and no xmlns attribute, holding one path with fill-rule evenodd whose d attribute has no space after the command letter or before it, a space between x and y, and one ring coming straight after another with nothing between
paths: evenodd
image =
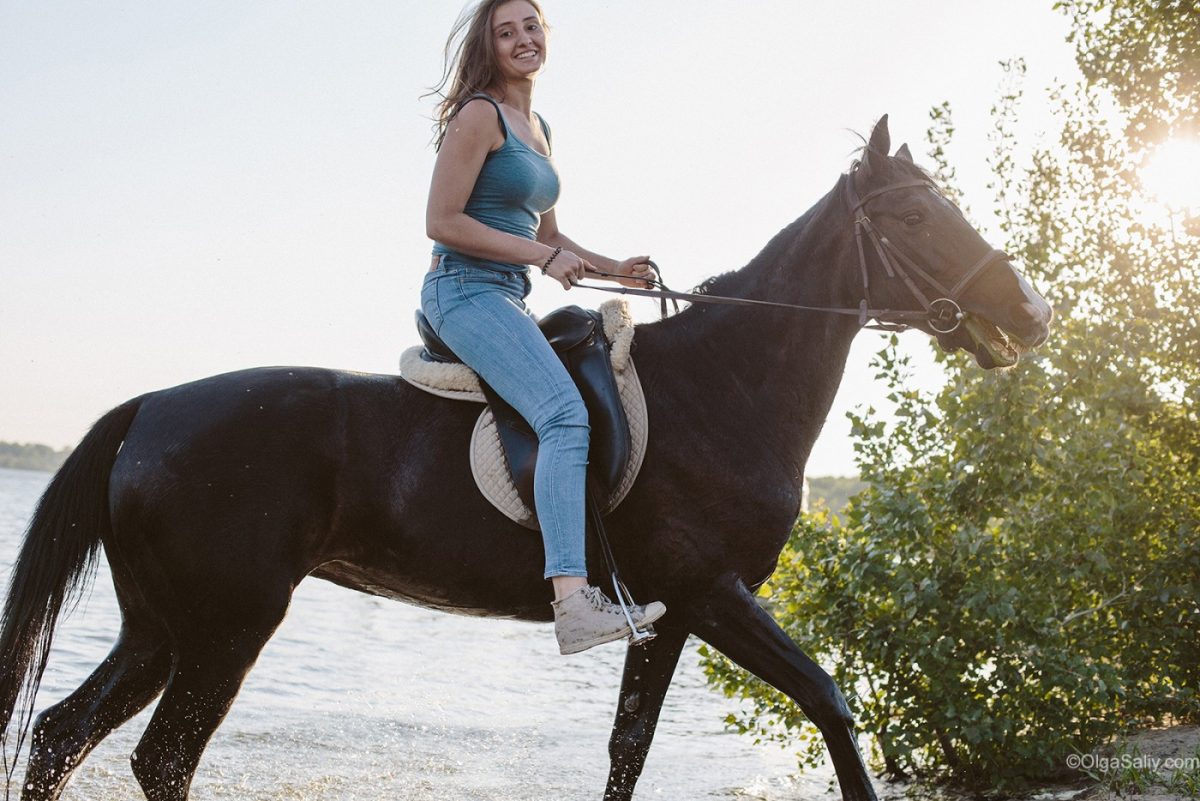
<instances>
[{"instance_id":1,"label":"smiling long-haired woman in teal tank top and jeans riding the horse","mask_svg":"<svg viewBox=\"0 0 1200 801\"><path fill-rule=\"evenodd\" d=\"M564 289L595 267L630 276L637 285L632 279L649 265L648 257L616 261L586 251L558 229L550 127L532 110L546 44L541 8L530 0L484 0L451 34L426 211L433 263L421 311L538 434L534 498L545 578L554 588L559 650L575 654L628 637L630 627L622 609L587 583L587 409L526 308L529 265L540 265ZM630 612L641 625L661 618L666 607L655 602Z\"/></svg>"}]
</instances>

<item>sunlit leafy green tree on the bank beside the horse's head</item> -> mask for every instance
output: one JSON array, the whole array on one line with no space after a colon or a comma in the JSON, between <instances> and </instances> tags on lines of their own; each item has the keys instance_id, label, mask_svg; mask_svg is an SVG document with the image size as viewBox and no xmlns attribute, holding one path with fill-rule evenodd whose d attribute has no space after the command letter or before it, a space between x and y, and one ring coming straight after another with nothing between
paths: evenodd
<instances>
[{"instance_id":1,"label":"sunlit leafy green tree on the bank beside the horse's head","mask_svg":"<svg viewBox=\"0 0 1200 801\"><path fill-rule=\"evenodd\" d=\"M995 108L996 210L1052 339L1001 372L940 355L930 397L884 349L893 422L853 416L868 489L842 519L803 518L762 594L851 691L880 763L976 788L1200 721L1200 240L1141 195L1142 141L1102 89L1055 92L1057 140L1020 157L1021 73ZM949 109L934 120L952 179ZM787 699L706 669L751 703L732 725L818 755Z\"/></svg>"}]
</instances>

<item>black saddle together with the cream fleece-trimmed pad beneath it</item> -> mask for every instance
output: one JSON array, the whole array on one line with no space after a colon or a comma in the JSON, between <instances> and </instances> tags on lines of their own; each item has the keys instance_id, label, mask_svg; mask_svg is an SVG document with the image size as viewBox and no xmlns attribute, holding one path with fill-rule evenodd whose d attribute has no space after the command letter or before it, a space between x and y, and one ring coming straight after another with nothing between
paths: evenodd
<instances>
[{"instance_id":1,"label":"black saddle together with the cream fleece-trimmed pad beneath it","mask_svg":"<svg viewBox=\"0 0 1200 801\"><path fill-rule=\"evenodd\" d=\"M506 517L536 530L533 468L538 438L529 424L432 331L418 312L425 347L404 351L400 373L413 386L445 398L486 403L470 439L470 470L487 500ZM646 456L646 397L630 349L634 321L623 299L599 311L568 306L538 324L550 341L588 408L592 436L588 475L598 506L607 514L624 500Z\"/></svg>"}]
</instances>

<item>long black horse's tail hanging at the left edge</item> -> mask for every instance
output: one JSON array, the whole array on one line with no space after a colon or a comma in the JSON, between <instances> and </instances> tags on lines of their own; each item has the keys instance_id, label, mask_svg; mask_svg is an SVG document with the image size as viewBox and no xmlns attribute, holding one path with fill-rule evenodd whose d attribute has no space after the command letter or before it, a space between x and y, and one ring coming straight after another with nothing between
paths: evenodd
<instances>
[{"instance_id":1,"label":"long black horse's tail hanging at the left edge","mask_svg":"<svg viewBox=\"0 0 1200 801\"><path fill-rule=\"evenodd\" d=\"M140 404L142 398L128 401L92 426L50 480L25 530L0 630L0 747L10 777L17 754L10 764L6 729L19 700L19 754L59 613L91 578L101 538L112 530L108 476Z\"/></svg>"}]
</instances>

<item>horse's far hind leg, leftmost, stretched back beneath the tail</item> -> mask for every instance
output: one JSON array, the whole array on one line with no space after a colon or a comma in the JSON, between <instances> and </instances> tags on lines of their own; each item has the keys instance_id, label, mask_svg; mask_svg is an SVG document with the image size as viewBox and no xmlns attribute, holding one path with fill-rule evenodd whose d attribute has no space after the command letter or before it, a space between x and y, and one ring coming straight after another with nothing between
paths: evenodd
<instances>
[{"instance_id":1,"label":"horse's far hind leg, leftmost, stretched back beneath the tail","mask_svg":"<svg viewBox=\"0 0 1200 801\"><path fill-rule=\"evenodd\" d=\"M113 729L154 700L170 674L166 632L126 624L113 651L34 725L23 801L54 801L72 771Z\"/></svg>"}]
</instances>

